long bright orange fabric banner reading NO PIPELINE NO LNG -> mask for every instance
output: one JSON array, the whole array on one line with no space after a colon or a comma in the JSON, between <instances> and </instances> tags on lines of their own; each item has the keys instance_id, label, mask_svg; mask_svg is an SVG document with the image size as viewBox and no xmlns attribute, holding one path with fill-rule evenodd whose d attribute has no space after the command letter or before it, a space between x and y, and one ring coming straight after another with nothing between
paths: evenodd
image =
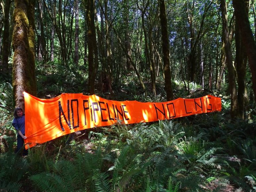
<instances>
[{"instance_id":1,"label":"long bright orange fabric banner reading NO PIPELINE NO LNG","mask_svg":"<svg viewBox=\"0 0 256 192\"><path fill-rule=\"evenodd\" d=\"M159 103L113 101L83 94L40 99L24 92L24 98L26 148L117 121L124 124L152 122L221 110L221 98L211 95Z\"/></svg>"}]
</instances>

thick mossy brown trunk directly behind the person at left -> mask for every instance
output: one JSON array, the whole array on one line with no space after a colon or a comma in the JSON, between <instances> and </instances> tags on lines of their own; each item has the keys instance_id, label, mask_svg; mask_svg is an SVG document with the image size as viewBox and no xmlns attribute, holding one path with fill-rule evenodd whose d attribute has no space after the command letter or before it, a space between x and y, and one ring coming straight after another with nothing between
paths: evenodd
<instances>
[{"instance_id":1,"label":"thick mossy brown trunk directly behind the person at left","mask_svg":"<svg viewBox=\"0 0 256 192\"><path fill-rule=\"evenodd\" d=\"M13 90L16 107L24 108L23 92L36 96L34 0L15 0Z\"/></svg>"}]
</instances>

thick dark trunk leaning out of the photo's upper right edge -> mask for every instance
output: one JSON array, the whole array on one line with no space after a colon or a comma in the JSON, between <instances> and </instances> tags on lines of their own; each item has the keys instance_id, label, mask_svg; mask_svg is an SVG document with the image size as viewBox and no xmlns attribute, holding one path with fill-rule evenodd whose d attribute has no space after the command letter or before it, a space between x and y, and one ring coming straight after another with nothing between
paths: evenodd
<instances>
[{"instance_id":1,"label":"thick dark trunk leaning out of the photo's upper right edge","mask_svg":"<svg viewBox=\"0 0 256 192\"><path fill-rule=\"evenodd\" d=\"M242 44L248 57L252 73L252 87L254 100L256 101L256 44L250 28L250 22L246 13L244 1L233 0L235 18L241 31Z\"/></svg>"}]
</instances>

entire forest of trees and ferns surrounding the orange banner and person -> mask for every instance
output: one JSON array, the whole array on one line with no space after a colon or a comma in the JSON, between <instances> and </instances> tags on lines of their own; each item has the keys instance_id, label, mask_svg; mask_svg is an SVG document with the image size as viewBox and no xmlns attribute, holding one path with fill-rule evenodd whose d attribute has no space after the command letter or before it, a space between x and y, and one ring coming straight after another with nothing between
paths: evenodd
<instances>
[{"instance_id":1,"label":"entire forest of trees and ferns surrounding the orange banner and person","mask_svg":"<svg viewBox=\"0 0 256 192\"><path fill-rule=\"evenodd\" d=\"M1 191L256 190L253 0L0 0ZM222 112L121 122L14 153L22 92Z\"/></svg>"}]
</instances>

